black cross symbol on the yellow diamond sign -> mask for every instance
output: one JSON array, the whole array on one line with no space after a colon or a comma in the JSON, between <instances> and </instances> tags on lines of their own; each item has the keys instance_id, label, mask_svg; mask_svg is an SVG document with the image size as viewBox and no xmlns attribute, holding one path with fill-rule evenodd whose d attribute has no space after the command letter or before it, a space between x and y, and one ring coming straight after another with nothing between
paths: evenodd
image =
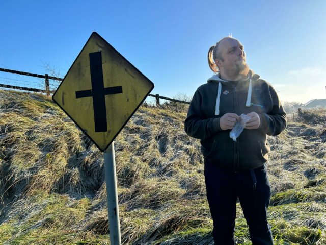
<instances>
[{"instance_id":1,"label":"black cross symbol on the yellow diamond sign","mask_svg":"<svg viewBox=\"0 0 326 245\"><path fill-rule=\"evenodd\" d=\"M102 52L90 53L91 90L76 91L76 98L93 97L95 132L106 132L105 95L122 93L122 86L104 88Z\"/></svg>"}]
</instances>

